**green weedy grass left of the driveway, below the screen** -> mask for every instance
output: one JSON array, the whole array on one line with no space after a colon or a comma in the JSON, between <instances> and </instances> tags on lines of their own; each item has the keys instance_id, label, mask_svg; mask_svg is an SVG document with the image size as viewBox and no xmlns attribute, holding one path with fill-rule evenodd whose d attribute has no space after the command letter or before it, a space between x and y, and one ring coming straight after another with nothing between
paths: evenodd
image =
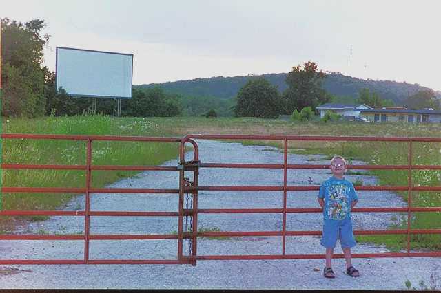
<instances>
[{"instance_id":1,"label":"green weedy grass left of the driveway, below the screen","mask_svg":"<svg viewBox=\"0 0 441 293\"><path fill-rule=\"evenodd\" d=\"M9 121L8 121L9 120ZM155 122L143 118L78 116L65 118L3 120L3 133L52 133L81 135L163 136ZM6 164L85 164L86 144L70 140L3 140ZM177 143L93 142L92 164L156 165L176 158ZM92 186L103 187L136 171L93 171ZM5 186L84 187L85 171L3 170ZM6 193L6 210L53 210L72 198L72 194ZM40 220L44 217L34 216ZM4 221L3 221L4 222Z\"/></svg>"}]
</instances>

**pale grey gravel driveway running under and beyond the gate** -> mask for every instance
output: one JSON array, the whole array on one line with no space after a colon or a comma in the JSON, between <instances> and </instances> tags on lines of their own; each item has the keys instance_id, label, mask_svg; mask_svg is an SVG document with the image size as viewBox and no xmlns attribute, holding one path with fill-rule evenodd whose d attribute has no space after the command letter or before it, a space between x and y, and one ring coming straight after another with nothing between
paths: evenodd
<instances>
[{"instance_id":1,"label":"pale grey gravel driveway running under and beyond the gate","mask_svg":"<svg viewBox=\"0 0 441 293\"><path fill-rule=\"evenodd\" d=\"M199 140L202 162L242 162L282 164L283 153L268 146L243 146ZM187 153L187 160L192 153ZM289 155L289 164L329 164L322 155ZM164 166L176 166L176 160ZM362 164L362 162L353 162ZM290 170L288 185L319 185L329 170ZM376 177L347 175L354 182L375 184ZM201 186L283 185L283 170L278 169L201 169ZM178 174L147 171L108 186L110 188L178 188ZM357 207L405 206L400 197L387 191L359 192ZM201 191L199 208L280 208L283 193ZM316 208L316 191L287 193L288 208ZM176 211L177 195L94 194L92 210ZM82 210L84 196L72 200L66 210ZM382 230L391 224L391 213L353 213L356 230ZM321 230L320 213L287 215L287 230ZM201 214L198 225L221 231L281 230L280 214ZM92 217L93 234L166 234L178 230L177 217ZM17 231L24 234L83 232L82 217L51 217L30 223ZM82 241L0 241L2 259L82 259ZM187 251L185 241L184 250ZM176 240L91 241L91 259L176 259ZM280 254L281 237L234 237L199 239L198 254ZM384 247L358 244L354 253L388 252ZM342 250L338 246L336 253ZM287 254L324 253L320 237L287 237ZM228 289L355 289L400 290L408 279L441 287L441 267L436 258L353 259L360 278L342 273L345 262L333 262L336 279L322 277L324 260L276 261L198 261L191 265L8 265L0 268L2 288L228 288ZM315 270L314 270L315 269ZM317 271L319 269L319 271ZM432 281L431 281L432 280Z\"/></svg>"}]
</instances>

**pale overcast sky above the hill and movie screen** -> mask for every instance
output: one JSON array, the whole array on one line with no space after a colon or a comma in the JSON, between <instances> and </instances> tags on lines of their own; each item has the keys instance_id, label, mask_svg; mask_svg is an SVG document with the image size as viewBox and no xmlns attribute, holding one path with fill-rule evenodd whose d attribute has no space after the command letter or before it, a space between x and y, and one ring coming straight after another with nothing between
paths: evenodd
<instances>
[{"instance_id":1,"label":"pale overcast sky above the hill and movie screen","mask_svg":"<svg viewBox=\"0 0 441 293\"><path fill-rule=\"evenodd\" d=\"M441 90L439 0L7 0L0 17L45 21L52 70L57 46L134 54L134 85L289 72L314 61Z\"/></svg>"}]
</instances>

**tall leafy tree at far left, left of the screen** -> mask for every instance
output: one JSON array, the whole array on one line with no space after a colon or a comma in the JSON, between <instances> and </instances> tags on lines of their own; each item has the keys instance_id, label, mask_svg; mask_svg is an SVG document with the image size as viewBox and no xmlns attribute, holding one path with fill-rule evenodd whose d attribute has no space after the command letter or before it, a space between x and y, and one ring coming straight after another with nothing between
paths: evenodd
<instances>
[{"instance_id":1,"label":"tall leafy tree at far left, left of the screen","mask_svg":"<svg viewBox=\"0 0 441 293\"><path fill-rule=\"evenodd\" d=\"M2 114L5 116L42 116L45 113L43 46L49 35L40 35L44 21L23 24L1 19L3 85Z\"/></svg>"}]
</instances>

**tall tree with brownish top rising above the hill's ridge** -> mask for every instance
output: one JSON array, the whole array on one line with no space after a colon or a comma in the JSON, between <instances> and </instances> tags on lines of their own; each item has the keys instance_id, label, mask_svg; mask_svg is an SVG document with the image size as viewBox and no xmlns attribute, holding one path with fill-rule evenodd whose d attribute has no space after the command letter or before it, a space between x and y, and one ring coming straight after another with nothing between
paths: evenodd
<instances>
[{"instance_id":1,"label":"tall tree with brownish top rising above the hill's ridge","mask_svg":"<svg viewBox=\"0 0 441 293\"><path fill-rule=\"evenodd\" d=\"M303 66L293 67L287 74L285 83L288 88L283 93L285 100L285 113L292 113L294 109L301 111L305 107L311 107L315 111L318 105L331 101L331 96L322 89L323 72L317 72L317 65L308 61Z\"/></svg>"}]
</instances>

